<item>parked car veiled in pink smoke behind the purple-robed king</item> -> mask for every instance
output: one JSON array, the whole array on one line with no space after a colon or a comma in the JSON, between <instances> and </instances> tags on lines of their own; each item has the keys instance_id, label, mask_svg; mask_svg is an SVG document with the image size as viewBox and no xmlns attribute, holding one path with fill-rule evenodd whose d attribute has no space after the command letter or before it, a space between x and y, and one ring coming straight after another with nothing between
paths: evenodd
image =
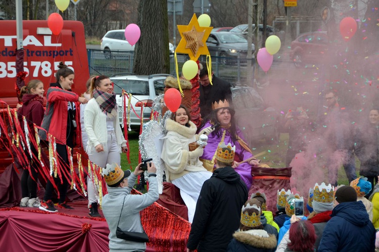
<instances>
[{"instance_id":1,"label":"parked car veiled in pink smoke behind the purple-robed king","mask_svg":"<svg viewBox=\"0 0 379 252\"><path fill-rule=\"evenodd\" d=\"M279 141L279 113L267 105L259 93L246 85L231 88L235 118L250 147L254 142L265 139Z\"/></svg>"}]
</instances>

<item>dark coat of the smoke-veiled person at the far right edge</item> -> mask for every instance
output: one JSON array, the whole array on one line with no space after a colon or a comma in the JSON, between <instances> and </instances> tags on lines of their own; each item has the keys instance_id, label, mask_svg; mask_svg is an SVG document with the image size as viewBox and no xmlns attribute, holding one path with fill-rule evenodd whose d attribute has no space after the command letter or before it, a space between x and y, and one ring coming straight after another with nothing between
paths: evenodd
<instances>
[{"instance_id":1,"label":"dark coat of the smoke-veiled person at the far right edge","mask_svg":"<svg viewBox=\"0 0 379 252\"><path fill-rule=\"evenodd\" d=\"M361 161L360 175L379 175L379 129L375 125L369 124L358 132L354 152Z\"/></svg>"}]
</instances>

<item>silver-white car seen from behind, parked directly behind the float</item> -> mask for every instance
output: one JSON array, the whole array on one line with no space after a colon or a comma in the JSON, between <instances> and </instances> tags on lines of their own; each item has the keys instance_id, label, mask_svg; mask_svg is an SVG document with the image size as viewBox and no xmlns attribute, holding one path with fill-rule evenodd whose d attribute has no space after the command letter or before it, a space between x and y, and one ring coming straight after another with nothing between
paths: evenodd
<instances>
[{"instance_id":1,"label":"silver-white car seen from behind, parked directly behind the float","mask_svg":"<svg viewBox=\"0 0 379 252\"><path fill-rule=\"evenodd\" d=\"M116 93L120 124L122 122L124 111L124 104L122 103L122 89L124 89L127 93L132 94L131 105L133 106L135 112L130 109L130 128L132 130L139 130L141 120L138 117L141 115L142 105L144 105L143 123L145 123L150 120L152 111L151 107L153 106L154 99L164 92L164 81L167 76L171 75L122 75L110 78L114 83L113 90ZM124 127L124 125L121 124L121 127Z\"/></svg>"}]
</instances>

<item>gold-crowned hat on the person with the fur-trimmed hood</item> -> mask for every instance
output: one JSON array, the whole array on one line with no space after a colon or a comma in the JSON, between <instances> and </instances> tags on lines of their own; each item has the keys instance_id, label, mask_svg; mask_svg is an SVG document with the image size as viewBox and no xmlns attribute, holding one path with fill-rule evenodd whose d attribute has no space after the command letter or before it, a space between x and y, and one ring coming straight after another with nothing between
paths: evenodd
<instances>
[{"instance_id":1,"label":"gold-crowned hat on the person with the fur-trimmed hood","mask_svg":"<svg viewBox=\"0 0 379 252\"><path fill-rule=\"evenodd\" d=\"M254 202L256 201L256 202ZM256 203L256 204L254 204ZM256 228L261 223L261 206L258 200L248 200L244 206L242 206L241 211L241 226L248 228Z\"/></svg>"}]
</instances>

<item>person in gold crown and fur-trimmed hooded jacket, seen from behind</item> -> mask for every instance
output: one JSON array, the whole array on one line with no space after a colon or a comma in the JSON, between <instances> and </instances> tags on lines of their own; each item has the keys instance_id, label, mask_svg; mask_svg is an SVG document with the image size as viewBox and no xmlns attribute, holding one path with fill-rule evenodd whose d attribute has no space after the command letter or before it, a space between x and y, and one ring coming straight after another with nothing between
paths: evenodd
<instances>
[{"instance_id":1,"label":"person in gold crown and fur-trimmed hooded jacket, seen from behind","mask_svg":"<svg viewBox=\"0 0 379 252\"><path fill-rule=\"evenodd\" d=\"M245 203L242 207L240 229L233 234L233 239L227 248L228 252L275 251L276 236L264 228L261 211L262 207L258 200L248 200Z\"/></svg>"}]
</instances>

